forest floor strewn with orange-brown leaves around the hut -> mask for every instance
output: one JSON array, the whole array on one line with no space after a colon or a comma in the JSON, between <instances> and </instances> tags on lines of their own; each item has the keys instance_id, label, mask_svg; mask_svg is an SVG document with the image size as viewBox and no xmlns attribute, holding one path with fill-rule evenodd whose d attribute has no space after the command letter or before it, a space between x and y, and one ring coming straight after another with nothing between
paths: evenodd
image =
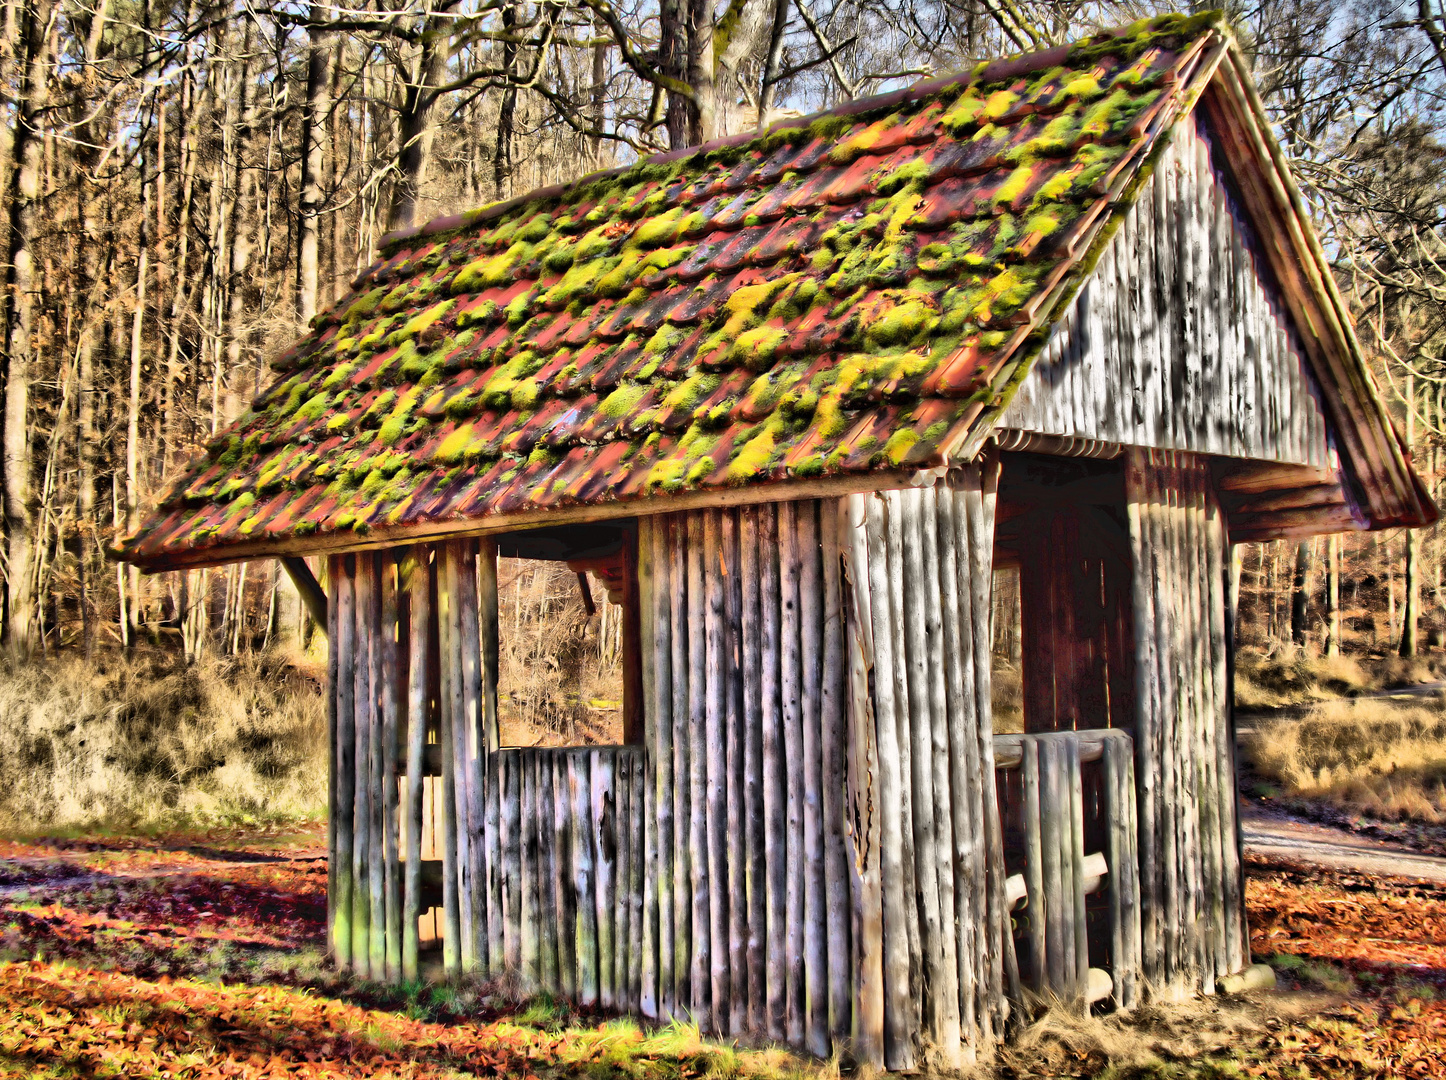
<instances>
[{"instance_id":1,"label":"forest floor strewn with orange-brown leaves around the hut","mask_svg":"<svg viewBox=\"0 0 1446 1080\"><path fill-rule=\"evenodd\" d=\"M999 1077L1446 1077L1446 886L1251 856L1277 993L1045 1015ZM836 1077L322 954L318 827L0 841L0 1077ZM847 1070L843 1070L847 1071Z\"/></svg>"}]
</instances>

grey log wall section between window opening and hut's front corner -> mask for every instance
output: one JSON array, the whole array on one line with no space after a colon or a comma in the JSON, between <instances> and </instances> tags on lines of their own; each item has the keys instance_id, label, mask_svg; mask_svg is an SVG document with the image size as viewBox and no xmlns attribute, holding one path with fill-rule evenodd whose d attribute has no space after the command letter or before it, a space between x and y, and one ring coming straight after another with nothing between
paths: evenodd
<instances>
[{"instance_id":1,"label":"grey log wall section between window opening and hut's front corner","mask_svg":"<svg viewBox=\"0 0 1446 1080\"><path fill-rule=\"evenodd\" d=\"M837 503L639 520L642 1012L827 1054L853 1027Z\"/></svg>"}]
</instances>

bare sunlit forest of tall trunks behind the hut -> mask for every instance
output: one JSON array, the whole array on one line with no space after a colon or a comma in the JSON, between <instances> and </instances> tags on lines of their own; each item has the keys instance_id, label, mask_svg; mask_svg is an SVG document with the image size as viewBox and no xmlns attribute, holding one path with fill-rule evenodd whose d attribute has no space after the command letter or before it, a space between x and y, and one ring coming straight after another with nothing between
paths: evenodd
<instances>
[{"instance_id":1,"label":"bare sunlit forest of tall trunks behind the hut","mask_svg":"<svg viewBox=\"0 0 1446 1080\"><path fill-rule=\"evenodd\" d=\"M1229 17L1378 383L1440 499L1446 14L1436 1L1264 0ZM161 785L152 795L165 789L174 804L188 771L246 758L252 773L228 788L249 792L243 801L307 801L276 787L321 723L314 701L295 711L299 729L276 720L285 688L320 677L291 646L272 649L291 658L282 668L262 658L308 636L279 567L143 577L104 549L246 408L270 379L268 360L347 291L386 231L1170 7L4 0L0 633L12 674L0 714L29 717L0 724L6 759L49 766L46 798L91 792L81 802L111 813L101 804L119 795L104 769L74 772L87 730L77 717L110 716L121 742L146 750L136 769ZM1307 655L1416 656L1446 640L1439 529L1236 554L1242 640L1275 665L1261 685L1290 681ZM570 590L518 578L518 625L551 613L583 626ZM538 664L513 649L519 700L545 701L560 732L593 723L578 701L615 697L604 661L616 622L586 622L574 652L590 659L573 664L597 672L586 693L528 684ZM58 652L49 674L27 667ZM189 721L168 726L205 714L233 720L204 737L201 726L185 734ZM74 775L59 768L62 743Z\"/></svg>"}]
</instances>

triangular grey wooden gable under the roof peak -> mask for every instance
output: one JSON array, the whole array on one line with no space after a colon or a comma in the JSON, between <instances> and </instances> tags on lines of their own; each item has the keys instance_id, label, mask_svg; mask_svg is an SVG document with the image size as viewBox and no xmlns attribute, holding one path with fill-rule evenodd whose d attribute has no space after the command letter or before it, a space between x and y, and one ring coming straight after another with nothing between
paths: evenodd
<instances>
[{"instance_id":1,"label":"triangular grey wooden gable under the roof peak","mask_svg":"<svg viewBox=\"0 0 1446 1080\"><path fill-rule=\"evenodd\" d=\"M1300 331L1210 156L1183 121L1001 428L1332 464Z\"/></svg>"}]
</instances>

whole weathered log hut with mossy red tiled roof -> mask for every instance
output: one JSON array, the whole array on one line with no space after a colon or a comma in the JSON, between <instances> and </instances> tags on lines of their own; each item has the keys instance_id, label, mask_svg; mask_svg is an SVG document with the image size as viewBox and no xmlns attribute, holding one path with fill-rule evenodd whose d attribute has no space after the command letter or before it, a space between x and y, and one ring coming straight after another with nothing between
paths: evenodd
<instances>
[{"instance_id":1,"label":"whole weathered log hut with mossy red tiled roof","mask_svg":"<svg viewBox=\"0 0 1446 1080\"><path fill-rule=\"evenodd\" d=\"M447 974L889 1068L1249 963L1231 544L1436 510L1216 17L382 247L119 551L311 588L337 963L435 908ZM499 552L617 584L625 745L499 746Z\"/></svg>"}]
</instances>

